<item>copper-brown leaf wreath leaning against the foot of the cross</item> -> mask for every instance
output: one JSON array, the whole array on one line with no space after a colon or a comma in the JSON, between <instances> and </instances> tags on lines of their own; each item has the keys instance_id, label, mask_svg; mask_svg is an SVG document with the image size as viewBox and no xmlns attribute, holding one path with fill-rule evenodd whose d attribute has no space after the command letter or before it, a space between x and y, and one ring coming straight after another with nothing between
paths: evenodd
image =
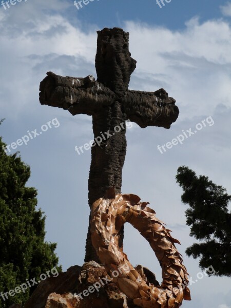
<instances>
[{"instance_id":1,"label":"copper-brown leaf wreath leaning against the foot of the cross","mask_svg":"<svg viewBox=\"0 0 231 308\"><path fill-rule=\"evenodd\" d=\"M100 198L91 208L92 244L108 275L134 304L144 308L178 308L183 299L190 300L188 274L175 243L148 202L136 195L114 195ZM125 222L131 223L149 242L162 267L161 285L141 277L119 247L119 232Z\"/></svg>"}]
</instances>

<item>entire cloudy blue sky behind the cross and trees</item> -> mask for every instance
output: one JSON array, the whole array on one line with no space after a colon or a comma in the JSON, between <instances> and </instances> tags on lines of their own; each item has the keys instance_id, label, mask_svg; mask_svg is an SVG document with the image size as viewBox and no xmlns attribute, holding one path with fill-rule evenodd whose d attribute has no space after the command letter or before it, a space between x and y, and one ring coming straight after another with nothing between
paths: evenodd
<instances>
[{"instance_id":1,"label":"entire cloudy blue sky behind the cross and trees","mask_svg":"<svg viewBox=\"0 0 231 308\"><path fill-rule=\"evenodd\" d=\"M91 118L72 115L59 108L41 106L38 88L47 71L61 75L96 77L94 57L97 30L122 27L130 33L129 49L137 60L129 88L155 91L165 88L177 100L180 115L169 130L127 131L127 155L122 192L149 201L178 238L178 246L192 278L201 269L199 260L188 258L189 237L181 203L182 191L175 181L177 168L187 165L206 175L231 194L231 2L172 0L159 8L156 1L95 0L77 10L72 1L28 0L7 10L0 8L0 118L6 118L0 134L7 144L57 119L40 136L22 145L23 161L31 167L28 185L38 190L38 207L45 212L46 240L57 242L57 255L66 269L82 265L88 227L87 180L90 151L74 151L92 139ZM182 144L163 154L164 145L182 130L195 129L211 117L214 125L203 127ZM139 245L139 254L136 247ZM148 243L126 225L124 251L132 264L161 271ZM211 264L212 265L212 264ZM204 277L190 285L191 302L183 307L230 308L230 279Z\"/></svg>"}]
</instances>

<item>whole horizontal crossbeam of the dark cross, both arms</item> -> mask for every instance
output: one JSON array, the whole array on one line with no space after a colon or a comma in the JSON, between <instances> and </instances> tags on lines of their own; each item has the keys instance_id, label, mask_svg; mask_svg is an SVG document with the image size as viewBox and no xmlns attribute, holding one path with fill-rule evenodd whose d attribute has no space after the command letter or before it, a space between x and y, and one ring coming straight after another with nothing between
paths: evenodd
<instances>
[{"instance_id":1,"label":"whole horizontal crossbeam of the dark cross, both arms","mask_svg":"<svg viewBox=\"0 0 231 308\"><path fill-rule=\"evenodd\" d=\"M40 84L40 103L69 110L73 115L88 114L121 101L127 119L140 127L160 126L170 128L179 115L175 100L168 97L164 89L155 92L126 91L122 98L94 80L89 75L85 78L63 77L48 72Z\"/></svg>"}]
</instances>

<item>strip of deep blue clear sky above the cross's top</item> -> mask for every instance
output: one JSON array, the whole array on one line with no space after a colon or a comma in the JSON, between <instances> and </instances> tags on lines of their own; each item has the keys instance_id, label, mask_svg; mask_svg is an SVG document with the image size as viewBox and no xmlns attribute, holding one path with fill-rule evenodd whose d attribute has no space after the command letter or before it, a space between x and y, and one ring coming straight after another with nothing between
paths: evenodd
<instances>
[{"instance_id":1,"label":"strip of deep blue clear sky above the cross's top","mask_svg":"<svg viewBox=\"0 0 231 308\"><path fill-rule=\"evenodd\" d=\"M72 1L70 1L72 3ZM101 28L121 26L125 20L140 21L150 25L182 29L186 20L195 15L201 21L222 16L219 6L226 1L217 0L172 0L162 9L155 0L95 0L81 10L72 10L72 16L78 16L84 23L97 23Z\"/></svg>"}]
</instances>

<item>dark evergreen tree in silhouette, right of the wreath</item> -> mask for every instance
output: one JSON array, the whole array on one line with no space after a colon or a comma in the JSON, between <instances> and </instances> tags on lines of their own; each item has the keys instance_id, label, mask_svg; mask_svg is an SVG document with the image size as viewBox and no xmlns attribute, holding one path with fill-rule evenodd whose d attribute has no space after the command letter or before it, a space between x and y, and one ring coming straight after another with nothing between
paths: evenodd
<instances>
[{"instance_id":1,"label":"dark evergreen tree in silhouette, right of the wreath","mask_svg":"<svg viewBox=\"0 0 231 308\"><path fill-rule=\"evenodd\" d=\"M231 196L226 189L205 176L196 176L188 167L178 168L177 182L183 188L181 200L188 204L185 211L190 236L199 243L186 249L186 254L200 258L202 269L212 265L215 276L231 276Z\"/></svg>"}]
</instances>

